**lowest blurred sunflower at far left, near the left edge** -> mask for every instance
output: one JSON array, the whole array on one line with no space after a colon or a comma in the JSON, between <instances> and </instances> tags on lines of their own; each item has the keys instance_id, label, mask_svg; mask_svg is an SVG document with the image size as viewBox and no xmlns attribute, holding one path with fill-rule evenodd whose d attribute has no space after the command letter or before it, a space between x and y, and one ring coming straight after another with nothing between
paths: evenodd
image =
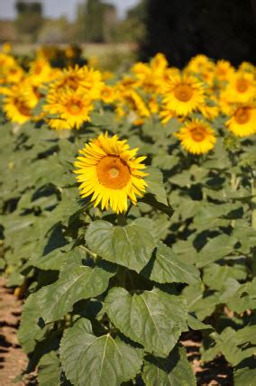
<instances>
[{"instance_id":1,"label":"lowest blurred sunflower at far left, near the left edge","mask_svg":"<svg viewBox=\"0 0 256 386\"><path fill-rule=\"evenodd\" d=\"M32 117L32 103L25 100L23 96L23 86L14 85L6 92L3 110L11 122L24 124Z\"/></svg>"}]
</instances>

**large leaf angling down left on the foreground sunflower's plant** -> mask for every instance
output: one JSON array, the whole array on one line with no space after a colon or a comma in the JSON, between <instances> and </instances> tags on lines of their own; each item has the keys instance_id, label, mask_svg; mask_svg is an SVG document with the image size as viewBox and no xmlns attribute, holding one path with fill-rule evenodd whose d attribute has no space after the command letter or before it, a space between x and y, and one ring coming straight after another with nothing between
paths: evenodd
<instances>
[{"instance_id":1,"label":"large leaf angling down left on the foreground sunflower's plant","mask_svg":"<svg viewBox=\"0 0 256 386\"><path fill-rule=\"evenodd\" d=\"M94 298L107 289L108 280L115 269L108 262L87 267L82 262L67 263L59 274L59 280L38 292L41 317L45 323L59 320L81 299Z\"/></svg>"}]
</instances>

